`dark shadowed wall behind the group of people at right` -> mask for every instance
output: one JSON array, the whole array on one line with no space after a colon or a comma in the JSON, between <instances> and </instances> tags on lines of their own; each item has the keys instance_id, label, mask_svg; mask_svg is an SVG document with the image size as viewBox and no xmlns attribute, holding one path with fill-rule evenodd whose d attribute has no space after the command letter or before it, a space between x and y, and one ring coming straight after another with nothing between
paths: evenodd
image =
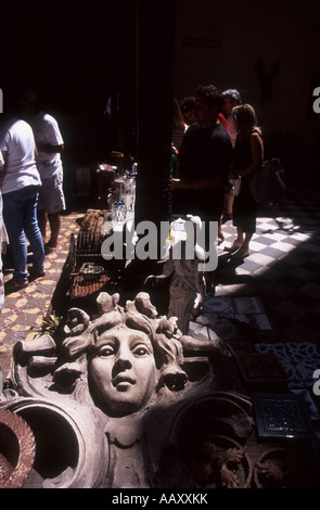
<instances>
[{"instance_id":1,"label":"dark shadowed wall behind the group of people at right","mask_svg":"<svg viewBox=\"0 0 320 510\"><path fill-rule=\"evenodd\" d=\"M297 158L305 162L320 119L320 115L308 118L312 74L320 71L319 11L319 2L311 0L299 4L177 0L176 97L182 99L197 85L208 82L221 89L238 88L243 100L256 109L270 152L281 152L285 144L289 166L296 165ZM183 38L190 35L220 36L220 48L185 47ZM258 59L265 73L279 62L272 98L264 104L254 67Z\"/></svg>"}]
</instances>

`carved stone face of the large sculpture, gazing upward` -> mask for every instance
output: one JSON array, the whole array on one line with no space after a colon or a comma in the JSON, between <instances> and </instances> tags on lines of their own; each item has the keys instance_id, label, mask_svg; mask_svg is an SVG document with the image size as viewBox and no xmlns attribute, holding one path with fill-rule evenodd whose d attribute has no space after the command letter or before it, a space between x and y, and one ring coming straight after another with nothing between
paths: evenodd
<instances>
[{"instance_id":1,"label":"carved stone face of the large sculpture, gazing upward","mask_svg":"<svg viewBox=\"0 0 320 510\"><path fill-rule=\"evenodd\" d=\"M92 396L110 416L140 410L155 390L152 343L145 333L124 324L97 339L88 368Z\"/></svg>"}]
</instances>

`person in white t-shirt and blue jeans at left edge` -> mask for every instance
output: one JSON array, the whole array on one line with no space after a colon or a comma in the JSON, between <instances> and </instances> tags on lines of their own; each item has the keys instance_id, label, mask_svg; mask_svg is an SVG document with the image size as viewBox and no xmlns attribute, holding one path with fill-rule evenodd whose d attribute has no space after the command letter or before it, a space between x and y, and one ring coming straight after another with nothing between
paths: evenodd
<instances>
[{"instance_id":1,"label":"person in white t-shirt and blue jeans at left edge","mask_svg":"<svg viewBox=\"0 0 320 510\"><path fill-rule=\"evenodd\" d=\"M36 144L31 127L21 118L22 104L1 126L0 150L4 160L1 171L3 220L13 254L13 278L5 293L24 289L27 278L27 243L33 251L33 272L44 276L44 247L37 220L37 202L41 179L36 166Z\"/></svg>"}]
</instances>

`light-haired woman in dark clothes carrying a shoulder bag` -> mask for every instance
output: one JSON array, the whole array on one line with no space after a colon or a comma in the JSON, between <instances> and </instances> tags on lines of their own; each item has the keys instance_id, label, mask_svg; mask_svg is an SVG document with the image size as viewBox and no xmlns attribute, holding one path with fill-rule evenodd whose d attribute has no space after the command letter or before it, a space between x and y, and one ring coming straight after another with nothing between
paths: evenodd
<instances>
[{"instance_id":1,"label":"light-haired woman in dark clothes carrying a shoulder bag","mask_svg":"<svg viewBox=\"0 0 320 510\"><path fill-rule=\"evenodd\" d=\"M249 178L263 167L264 142L253 106L249 104L235 106L232 110L232 116L238 136L230 177L240 178L241 184L240 192L235 194L233 203L233 225L236 227L236 239L232 246L226 250L235 252L236 258L244 258L249 255L249 243L256 231L257 218L257 203L249 189Z\"/></svg>"}]
</instances>

